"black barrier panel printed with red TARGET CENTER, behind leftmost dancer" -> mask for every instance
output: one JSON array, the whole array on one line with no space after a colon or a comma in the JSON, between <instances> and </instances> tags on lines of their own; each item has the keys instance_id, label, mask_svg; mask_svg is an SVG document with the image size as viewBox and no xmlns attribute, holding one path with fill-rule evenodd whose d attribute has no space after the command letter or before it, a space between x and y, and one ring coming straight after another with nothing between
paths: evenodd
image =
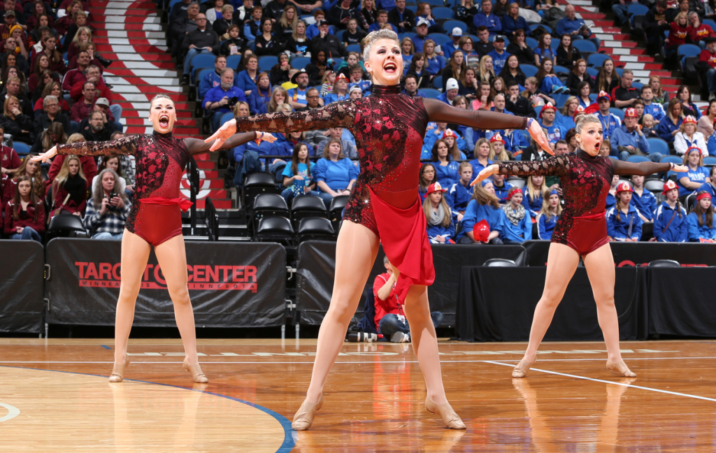
<instances>
[{"instance_id":1,"label":"black barrier panel printed with red TARGET CENTER, behind leftmost dancer","mask_svg":"<svg viewBox=\"0 0 716 453\"><path fill-rule=\"evenodd\" d=\"M47 244L49 323L110 326L120 290L119 241L58 238ZM286 250L275 243L186 243L189 295L198 327L281 326ZM174 326L154 253L142 278L135 326Z\"/></svg>"}]
</instances>

